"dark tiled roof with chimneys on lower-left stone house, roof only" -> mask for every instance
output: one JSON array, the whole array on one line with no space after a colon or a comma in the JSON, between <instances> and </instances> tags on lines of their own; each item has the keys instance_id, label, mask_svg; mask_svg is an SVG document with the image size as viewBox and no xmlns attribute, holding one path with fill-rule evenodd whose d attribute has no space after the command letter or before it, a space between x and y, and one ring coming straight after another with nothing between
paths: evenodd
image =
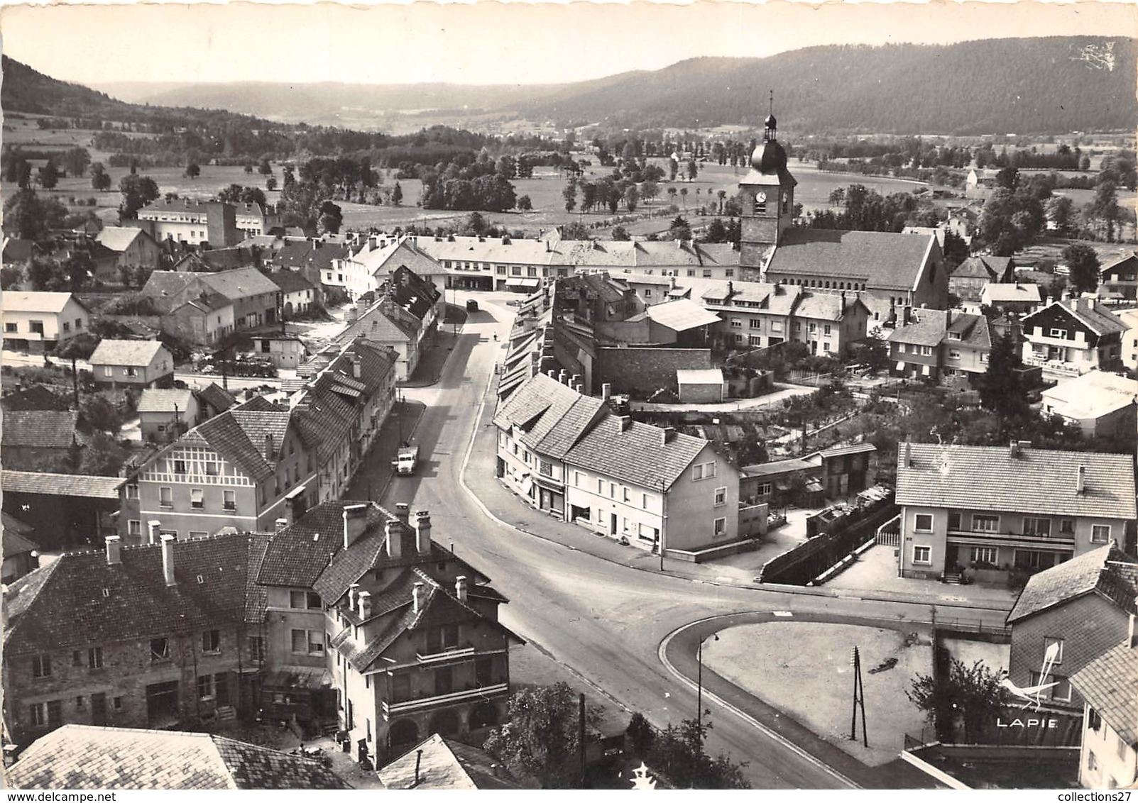
<instances>
[{"instance_id":1,"label":"dark tiled roof with chimneys on lower-left stone house, roof only","mask_svg":"<svg viewBox=\"0 0 1138 803\"><path fill-rule=\"evenodd\" d=\"M123 546L117 565L101 550L65 553L8 587L5 657L244 621L258 538L265 536L174 541L174 586L165 582L160 544Z\"/></svg>"}]
</instances>

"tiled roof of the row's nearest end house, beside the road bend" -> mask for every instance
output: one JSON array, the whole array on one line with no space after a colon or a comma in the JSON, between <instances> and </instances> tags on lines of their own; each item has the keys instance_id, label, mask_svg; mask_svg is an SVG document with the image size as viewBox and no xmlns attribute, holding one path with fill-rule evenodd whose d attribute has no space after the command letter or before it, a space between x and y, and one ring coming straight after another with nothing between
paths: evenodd
<instances>
[{"instance_id":1,"label":"tiled roof of the row's nearest end house, beside the road bend","mask_svg":"<svg viewBox=\"0 0 1138 803\"><path fill-rule=\"evenodd\" d=\"M629 421L621 431L620 425L617 416L602 419L569 449L564 462L642 488L671 488L708 445L678 432L665 444L658 427Z\"/></svg>"}]
</instances>

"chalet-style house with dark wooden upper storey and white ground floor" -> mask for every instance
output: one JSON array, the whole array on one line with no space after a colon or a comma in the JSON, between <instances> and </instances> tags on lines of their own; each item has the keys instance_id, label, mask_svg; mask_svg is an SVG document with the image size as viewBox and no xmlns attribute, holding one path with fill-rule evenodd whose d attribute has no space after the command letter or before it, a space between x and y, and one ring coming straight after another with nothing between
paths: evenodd
<instances>
[{"instance_id":1,"label":"chalet-style house with dark wooden upper storey and white ground floor","mask_svg":"<svg viewBox=\"0 0 1138 803\"><path fill-rule=\"evenodd\" d=\"M1078 376L1096 369L1122 366L1127 326L1094 298L1065 298L1022 321L1023 362L1048 379Z\"/></svg>"}]
</instances>

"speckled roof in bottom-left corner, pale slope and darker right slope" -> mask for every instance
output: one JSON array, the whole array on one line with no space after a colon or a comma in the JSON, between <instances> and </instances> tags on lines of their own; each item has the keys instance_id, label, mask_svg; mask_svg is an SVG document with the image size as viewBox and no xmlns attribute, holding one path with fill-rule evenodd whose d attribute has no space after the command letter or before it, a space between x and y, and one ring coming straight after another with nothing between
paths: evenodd
<instances>
[{"instance_id":1,"label":"speckled roof in bottom-left corner, pale slope and darker right slope","mask_svg":"<svg viewBox=\"0 0 1138 803\"><path fill-rule=\"evenodd\" d=\"M6 770L20 789L348 789L315 759L209 734L65 725Z\"/></svg>"}]
</instances>

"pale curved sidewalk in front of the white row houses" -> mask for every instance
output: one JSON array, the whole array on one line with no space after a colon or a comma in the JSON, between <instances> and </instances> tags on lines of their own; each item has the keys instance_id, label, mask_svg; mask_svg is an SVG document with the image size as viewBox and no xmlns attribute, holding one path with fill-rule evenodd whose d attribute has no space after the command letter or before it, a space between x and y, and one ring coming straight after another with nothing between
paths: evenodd
<instances>
[{"instance_id":1,"label":"pale curved sidewalk in front of the white row houses","mask_svg":"<svg viewBox=\"0 0 1138 803\"><path fill-rule=\"evenodd\" d=\"M620 546L607 536L594 535L576 524L569 524L560 519L530 507L529 504L505 487L495 475L497 460L497 430L494 428L494 405L496 394L494 383L484 395L484 408L475 434L473 447L470 450L470 462L463 471L463 480L470 491L481 500L483 505L505 524L521 532L536 536L554 544L580 549L589 555L612 563L619 563L632 569L660 573L660 557L635 546ZM778 538L784 544L793 541L793 536ZM942 586L931 581L906 581L904 588L881 588L864 582L849 582L844 587L801 587L783 585L757 585L756 570L762 562L773 556L770 550L759 553L742 553L716 563L687 563L676 558L665 558L663 573L671 577L699 580L712 585L741 588L765 588L790 594L807 594L811 596L850 597L850 590L857 588L863 599L882 602L916 603L923 605L951 604L959 607L998 607L1011 610L1015 602L1014 595L983 594L972 601L968 593L974 586ZM857 565L857 564L855 564ZM846 577L849 572L840 577ZM855 580L857 576L850 579ZM909 583L913 583L909 586ZM946 588L953 589L950 593ZM968 591L965 591L968 589ZM964 595L967 596L964 596Z\"/></svg>"}]
</instances>

